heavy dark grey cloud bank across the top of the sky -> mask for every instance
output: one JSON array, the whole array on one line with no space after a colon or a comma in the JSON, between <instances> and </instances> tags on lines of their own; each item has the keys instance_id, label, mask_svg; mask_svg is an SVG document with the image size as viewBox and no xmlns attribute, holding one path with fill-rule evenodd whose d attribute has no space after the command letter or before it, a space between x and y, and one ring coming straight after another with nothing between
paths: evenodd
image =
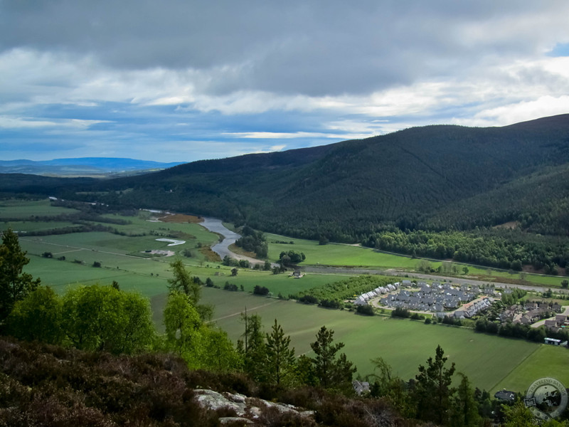
<instances>
[{"instance_id":1,"label":"heavy dark grey cloud bank across the top of the sky","mask_svg":"<svg viewBox=\"0 0 569 427\"><path fill-rule=\"evenodd\" d=\"M530 1L4 1L0 47L91 54L116 68L211 71L203 90L365 93L519 55L539 38L508 16ZM491 34L469 33L484 23Z\"/></svg>"}]
</instances>

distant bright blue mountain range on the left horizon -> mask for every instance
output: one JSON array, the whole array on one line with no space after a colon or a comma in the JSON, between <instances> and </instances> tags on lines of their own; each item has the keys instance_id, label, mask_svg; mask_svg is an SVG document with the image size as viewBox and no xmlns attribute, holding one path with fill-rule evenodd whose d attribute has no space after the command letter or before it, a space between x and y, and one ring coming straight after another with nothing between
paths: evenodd
<instances>
[{"instance_id":1,"label":"distant bright blue mountain range on the left horizon","mask_svg":"<svg viewBox=\"0 0 569 427\"><path fill-rule=\"evenodd\" d=\"M0 160L0 173L46 176L108 176L132 174L174 167L181 162L161 163L118 157L80 157L77 159Z\"/></svg>"}]
</instances>

